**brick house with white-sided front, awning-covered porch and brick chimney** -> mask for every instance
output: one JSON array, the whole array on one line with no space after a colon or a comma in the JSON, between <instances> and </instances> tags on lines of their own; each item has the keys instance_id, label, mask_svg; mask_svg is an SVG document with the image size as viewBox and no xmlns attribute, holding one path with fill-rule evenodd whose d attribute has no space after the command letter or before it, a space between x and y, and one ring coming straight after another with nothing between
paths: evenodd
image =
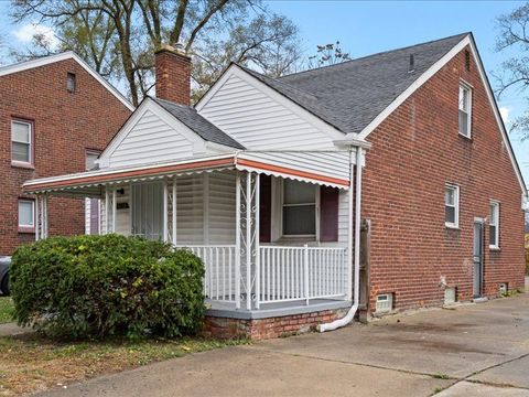
<instances>
[{"instance_id":1,"label":"brick house with white-sided front, awning-covered porch and brick chimney","mask_svg":"<svg viewBox=\"0 0 529 397\"><path fill-rule=\"evenodd\" d=\"M225 336L522 288L527 191L472 33L277 79L233 64L194 107L190 58L155 63L98 170L24 184L40 238L48 197L101 200L102 233L202 257Z\"/></svg>"}]
</instances>

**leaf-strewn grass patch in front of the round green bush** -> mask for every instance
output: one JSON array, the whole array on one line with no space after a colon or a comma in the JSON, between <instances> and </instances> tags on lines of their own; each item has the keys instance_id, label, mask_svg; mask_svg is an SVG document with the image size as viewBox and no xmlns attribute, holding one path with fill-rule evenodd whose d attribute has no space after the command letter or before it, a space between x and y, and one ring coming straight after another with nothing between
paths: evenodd
<instances>
[{"instance_id":1,"label":"leaf-strewn grass patch in front of the round green bush","mask_svg":"<svg viewBox=\"0 0 529 397\"><path fill-rule=\"evenodd\" d=\"M97 375L246 341L182 339L58 343L37 334L0 337L0 396L18 396Z\"/></svg>"}]
</instances>

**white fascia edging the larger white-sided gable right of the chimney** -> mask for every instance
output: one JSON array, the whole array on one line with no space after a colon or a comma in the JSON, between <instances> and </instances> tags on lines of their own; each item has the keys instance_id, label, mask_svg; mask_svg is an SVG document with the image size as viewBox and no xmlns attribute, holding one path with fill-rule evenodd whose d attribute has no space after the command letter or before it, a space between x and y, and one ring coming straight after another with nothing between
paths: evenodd
<instances>
[{"instance_id":1,"label":"white fascia edging the larger white-sided gable right of the chimney","mask_svg":"<svg viewBox=\"0 0 529 397\"><path fill-rule=\"evenodd\" d=\"M305 120L306 122L313 125L317 129L326 132L331 136L332 139L343 139L345 133L337 130L326 121L322 120L320 117L313 115L302 106L298 105L293 100L287 98L284 95L280 94L276 89L269 87L267 84L260 82L258 78L242 69L236 64L231 64L226 72L220 76L220 78L213 85L213 87L204 95L201 100L195 105L196 111L201 115L201 110L207 105L207 103L215 96L215 94L223 87L223 85L228 81L230 76L237 76L240 79L245 81L247 84L253 86L256 89L259 89L261 93L270 97L276 103L284 106L293 114ZM201 115L207 119L206 115ZM213 124L212 120L208 120Z\"/></svg>"}]
</instances>

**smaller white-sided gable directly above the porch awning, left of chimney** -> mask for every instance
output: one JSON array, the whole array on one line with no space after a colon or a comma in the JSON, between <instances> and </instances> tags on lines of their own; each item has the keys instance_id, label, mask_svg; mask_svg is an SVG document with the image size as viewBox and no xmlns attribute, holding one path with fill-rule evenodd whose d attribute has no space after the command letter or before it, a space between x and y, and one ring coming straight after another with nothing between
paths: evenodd
<instances>
[{"instance_id":1,"label":"smaller white-sided gable directly above the porch awning, left of chimney","mask_svg":"<svg viewBox=\"0 0 529 397\"><path fill-rule=\"evenodd\" d=\"M143 165L217 153L215 146L147 99L105 149L99 167Z\"/></svg>"}]
</instances>

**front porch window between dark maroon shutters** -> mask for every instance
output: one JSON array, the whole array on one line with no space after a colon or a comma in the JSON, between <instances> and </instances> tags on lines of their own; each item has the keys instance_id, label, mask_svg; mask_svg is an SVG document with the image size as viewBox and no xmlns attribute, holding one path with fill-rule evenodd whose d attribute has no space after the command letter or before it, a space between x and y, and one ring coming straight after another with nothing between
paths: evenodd
<instances>
[{"instance_id":1,"label":"front porch window between dark maroon shutters","mask_svg":"<svg viewBox=\"0 0 529 397\"><path fill-rule=\"evenodd\" d=\"M283 235L316 234L316 187L310 183L283 180Z\"/></svg>"}]
</instances>

